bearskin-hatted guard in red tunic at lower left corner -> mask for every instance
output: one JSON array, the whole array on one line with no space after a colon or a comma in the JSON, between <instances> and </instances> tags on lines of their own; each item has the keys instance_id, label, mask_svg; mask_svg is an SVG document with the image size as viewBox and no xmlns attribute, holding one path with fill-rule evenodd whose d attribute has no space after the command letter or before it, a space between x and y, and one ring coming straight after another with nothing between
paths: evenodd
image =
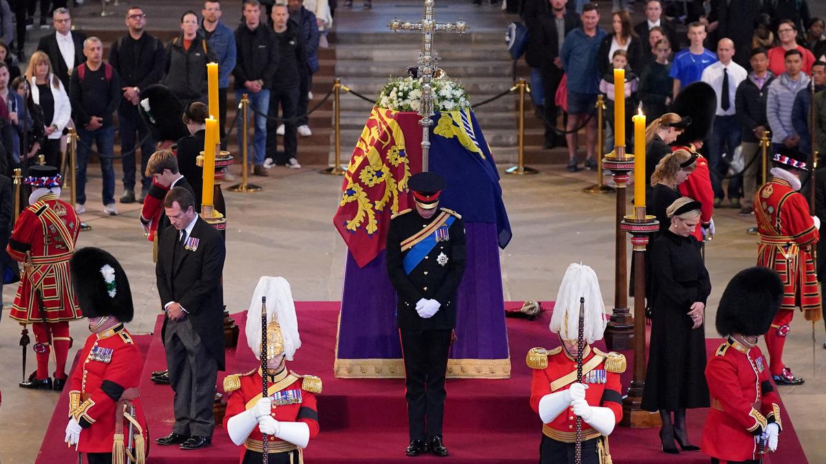
<instances>
[{"instance_id":1,"label":"bearskin-hatted guard in red tunic at lower left corner","mask_svg":"<svg viewBox=\"0 0 826 464\"><path fill-rule=\"evenodd\" d=\"M138 384L143 357L124 323L132 293L121 264L106 251L78 249L69 263L72 285L92 332L69 379L65 442L89 464L143 464L148 448Z\"/></svg>"}]
</instances>

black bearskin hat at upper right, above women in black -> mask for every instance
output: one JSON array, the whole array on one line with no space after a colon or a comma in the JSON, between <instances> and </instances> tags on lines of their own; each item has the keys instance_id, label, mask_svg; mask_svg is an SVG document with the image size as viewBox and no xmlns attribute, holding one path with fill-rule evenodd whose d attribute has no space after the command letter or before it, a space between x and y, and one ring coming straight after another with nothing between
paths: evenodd
<instances>
[{"instance_id":1,"label":"black bearskin hat at upper right, above women in black","mask_svg":"<svg viewBox=\"0 0 826 464\"><path fill-rule=\"evenodd\" d=\"M695 140L706 140L714 126L717 94L707 83L690 83L676 94L671 111L682 117L691 117L691 124L677 136L676 144L687 145Z\"/></svg>"}]
</instances>

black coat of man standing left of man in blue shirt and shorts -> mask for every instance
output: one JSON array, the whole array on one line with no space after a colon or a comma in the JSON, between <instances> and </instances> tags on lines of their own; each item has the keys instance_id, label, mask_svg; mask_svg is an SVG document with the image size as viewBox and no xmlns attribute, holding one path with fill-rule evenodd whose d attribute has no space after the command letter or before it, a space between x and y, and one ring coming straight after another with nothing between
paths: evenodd
<instances>
[{"instance_id":1,"label":"black coat of man standing left of man in blue shirt and shorts","mask_svg":"<svg viewBox=\"0 0 826 464\"><path fill-rule=\"evenodd\" d=\"M525 15L525 26L528 28L528 48L525 50L525 62L533 68L553 66L553 59L559 56L559 36L557 34L556 17L547 7L545 11L532 12L532 16ZM565 12L565 34L582 24L579 15L575 12Z\"/></svg>"}]
</instances>

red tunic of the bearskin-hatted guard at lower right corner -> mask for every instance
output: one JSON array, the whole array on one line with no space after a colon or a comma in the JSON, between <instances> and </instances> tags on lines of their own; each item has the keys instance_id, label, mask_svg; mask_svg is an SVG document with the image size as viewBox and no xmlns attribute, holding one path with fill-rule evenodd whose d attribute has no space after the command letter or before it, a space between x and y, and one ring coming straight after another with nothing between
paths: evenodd
<instances>
[{"instance_id":1,"label":"red tunic of the bearskin-hatted guard at lower right corner","mask_svg":"<svg viewBox=\"0 0 826 464\"><path fill-rule=\"evenodd\" d=\"M720 461L756 460L757 438L767 424L782 430L777 392L769 381L760 348L730 339L705 367L711 409L703 426L701 449Z\"/></svg>"}]
</instances>

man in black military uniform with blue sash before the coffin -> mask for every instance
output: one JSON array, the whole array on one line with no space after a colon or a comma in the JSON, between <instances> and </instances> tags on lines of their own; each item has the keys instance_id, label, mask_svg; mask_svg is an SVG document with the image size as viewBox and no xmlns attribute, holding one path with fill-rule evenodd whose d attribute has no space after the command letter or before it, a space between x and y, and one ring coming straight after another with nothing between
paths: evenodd
<instances>
[{"instance_id":1,"label":"man in black military uniform with blue sash before the coffin","mask_svg":"<svg viewBox=\"0 0 826 464\"><path fill-rule=\"evenodd\" d=\"M456 327L456 290L467 256L464 223L456 212L437 209L444 189L438 174L416 174L407 185L415 209L393 215L387 233L387 273L396 288L405 357L407 456L427 451L448 456L442 443L444 377Z\"/></svg>"}]
</instances>

